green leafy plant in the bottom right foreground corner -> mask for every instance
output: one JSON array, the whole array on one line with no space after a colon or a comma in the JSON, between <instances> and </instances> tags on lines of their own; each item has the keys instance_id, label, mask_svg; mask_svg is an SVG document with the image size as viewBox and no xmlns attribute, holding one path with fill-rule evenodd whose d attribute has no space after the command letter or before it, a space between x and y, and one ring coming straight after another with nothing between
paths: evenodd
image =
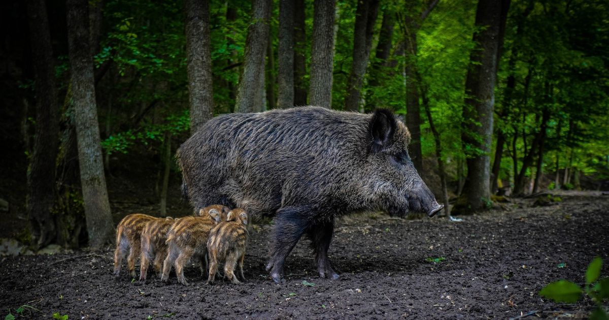
<instances>
[{"instance_id":1,"label":"green leafy plant in the bottom right foreground corner","mask_svg":"<svg viewBox=\"0 0 609 320\"><path fill-rule=\"evenodd\" d=\"M586 286L583 289L568 280L558 280L544 286L539 294L555 302L574 304L585 293L597 305L597 308L591 313L590 319L608 319L609 315L602 308L602 300L609 299L609 277L598 280L602 265L603 260L600 257L596 257L590 262L586 269Z\"/></svg>"}]
</instances>

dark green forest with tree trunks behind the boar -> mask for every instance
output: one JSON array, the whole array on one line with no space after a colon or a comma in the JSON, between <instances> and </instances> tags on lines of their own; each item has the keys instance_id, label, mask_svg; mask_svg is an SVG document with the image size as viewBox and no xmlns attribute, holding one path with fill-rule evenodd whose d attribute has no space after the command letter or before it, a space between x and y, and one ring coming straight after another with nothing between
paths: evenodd
<instances>
[{"instance_id":1,"label":"dark green forest with tree trunks behind the boar","mask_svg":"<svg viewBox=\"0 0 609 320\"><path fill-rule=\"evenodd\" d=\"M415 166L454 214L607 190L608 7L3 1L1 231L99 247L129 210L186 214L180 143L220 113L295 105L403 115Z\"/></svg>"}]
</instances>

